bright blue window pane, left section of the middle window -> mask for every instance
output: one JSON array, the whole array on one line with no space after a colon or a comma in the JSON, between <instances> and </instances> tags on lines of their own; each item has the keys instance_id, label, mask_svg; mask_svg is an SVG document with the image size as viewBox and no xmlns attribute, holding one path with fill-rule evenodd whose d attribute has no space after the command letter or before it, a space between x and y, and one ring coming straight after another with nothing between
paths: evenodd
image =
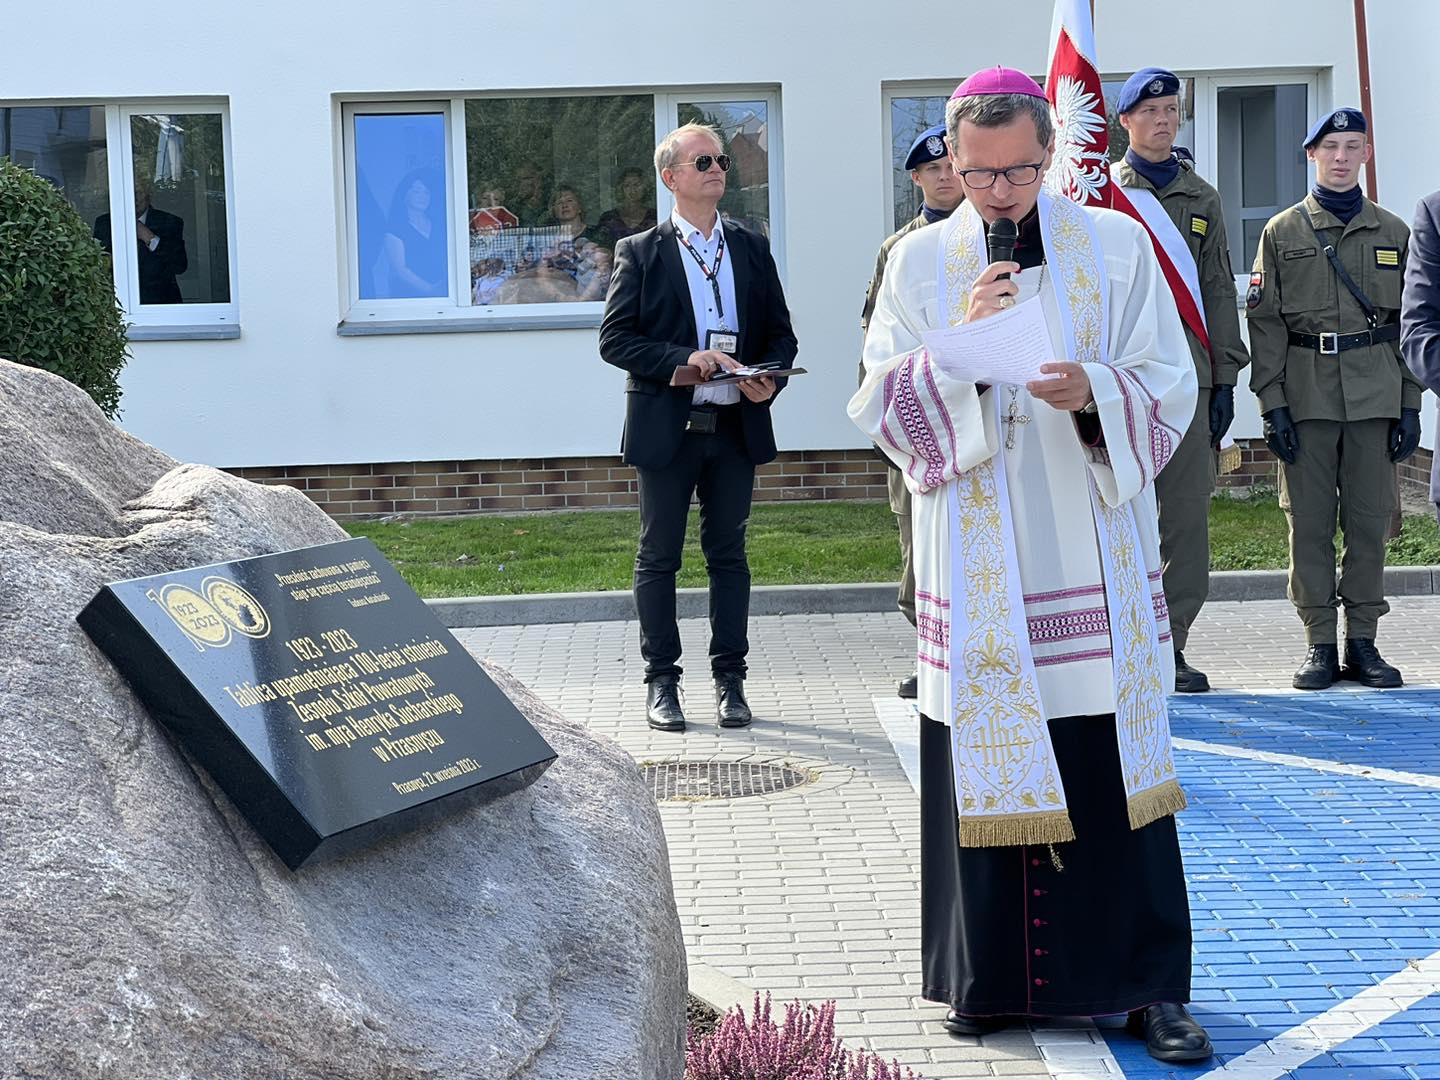
<instances>
[{"instance_id":1,"label":"bright blue window pane, left section of the middle window","mask_svg":"<svg viewBox=\"0 0 1440 1080\"><path fill-rule=\"evenodd\" d=\"M360 298L448 297L445 115L354 118Z\"/></svg>"}]
</instances>

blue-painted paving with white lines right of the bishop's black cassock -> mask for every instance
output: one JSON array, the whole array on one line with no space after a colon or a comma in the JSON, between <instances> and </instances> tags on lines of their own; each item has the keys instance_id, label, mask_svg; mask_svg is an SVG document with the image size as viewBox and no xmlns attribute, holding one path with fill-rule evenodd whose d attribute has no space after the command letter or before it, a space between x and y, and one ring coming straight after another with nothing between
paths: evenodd
<instances>
[{"instance_id":1,"label":"blue-painted paving with white lines right of the bishop's black cassock","mask_svg":"<svg viewBox=\"0 0 1440 1080\"><path fill-rule=\"evenodd\" d=\"M1181 739L1440 776L1436 691L1205 694L1174 698L1171 723ZM1217 1058L1164 1066L1106 1027L1125 1076L1202 1076L1440 952L1440 791L1200 752L1176 766L1192 1008ZM1440 1080L1440 998L1272 1074Z\"/></svg>"}]
</instances>

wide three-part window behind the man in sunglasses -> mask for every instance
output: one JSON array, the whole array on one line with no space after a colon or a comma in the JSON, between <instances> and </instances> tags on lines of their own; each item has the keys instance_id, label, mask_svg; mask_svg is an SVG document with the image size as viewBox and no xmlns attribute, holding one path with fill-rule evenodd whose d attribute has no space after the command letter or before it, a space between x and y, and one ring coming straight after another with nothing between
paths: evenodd
<instances>
[{"instance_id":1,"label":"wide three-part window behind the man in sunglasses","mask_svg":"<svg viewBox=\"0 0 1440 1080\"><path fill-rule=\"evenodd\" d=\"M599 325L615 245L670 213L654 156L680 124L720 132L733 160L720 212L772 235L778 104L733 91L344 104L341 333Z\"/></svg>"}]
</instances>

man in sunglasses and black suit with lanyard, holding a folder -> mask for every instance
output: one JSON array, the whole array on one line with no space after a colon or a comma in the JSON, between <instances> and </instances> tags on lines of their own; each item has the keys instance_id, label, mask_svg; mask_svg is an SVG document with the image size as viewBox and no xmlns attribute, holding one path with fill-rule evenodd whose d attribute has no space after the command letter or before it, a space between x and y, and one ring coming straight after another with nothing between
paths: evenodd
<instances>
[{"instance_id":1,"label":"man in sunglasses and black suit with lanyard, holding a folder","mask_svg":"<svg viewBox=\"0 0 1440 1080\"><path fill-rule=\"evenodd\" d=\"M700 495L700 546L710 575L710 670L723 727L750 723L744 700L750 567L744 528L755 467L775 458L769 376L675 386L740 366L795 361L795 333L766 239L721 222L730 158L719 135L687 124L655 150L675 210L624 238L600 324L600 357L628 373L621 451L639 478L635 608L651 727L681 732L675 573L690 498Z\"/></svg>"}]
</instances>

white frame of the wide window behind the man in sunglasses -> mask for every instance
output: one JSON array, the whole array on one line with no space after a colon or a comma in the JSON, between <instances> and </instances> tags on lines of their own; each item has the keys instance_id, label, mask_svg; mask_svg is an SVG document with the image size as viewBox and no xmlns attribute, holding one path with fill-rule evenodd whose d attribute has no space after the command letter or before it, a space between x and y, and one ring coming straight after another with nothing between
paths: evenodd
<instances>
[{"instance_id":1,"label":"white frame of the wide window behind the man in sunglasses","mask_svg":"<svg viewBox=\"0 0 1440 1080\"><path fill-rule=\"evenodd\" d=\"M465 132L465 102L495 98L576 98L576 96L645 96L651 99L655 121L655 143L675 125L680 102L703 104L707 101L760 101L766 102L768 127L770 128L769 180L770 180L770 246L776 265L783 274L783 177L780 135L780 92L773 85L707 85L696 88L635 88L635 86L586 86L552 89L485 89L459 92L416 92L416 94L346 94L336 95L337 141L340 156L337 170L337 213L340 215L338 236L344 251L340 252L340 324L341 337L372 334L415 334L415 333L469 333L492 330L593 330L600 325L605 301L569 301L547 304L488 304L474 302L469 287L469 145ZM448 158L446 177L451 184L449 236L454 252L451 261L451 295L415 297L399 300L360 300L359 236L356 220L356 160L354 160L354 117L376 112L419 112L439 111L445 114L445 153ZM667 122L668 121L668 122ZM657 220L664 220L674 202L670 192L654 177Z\"/></svg>"}]
</instances>

